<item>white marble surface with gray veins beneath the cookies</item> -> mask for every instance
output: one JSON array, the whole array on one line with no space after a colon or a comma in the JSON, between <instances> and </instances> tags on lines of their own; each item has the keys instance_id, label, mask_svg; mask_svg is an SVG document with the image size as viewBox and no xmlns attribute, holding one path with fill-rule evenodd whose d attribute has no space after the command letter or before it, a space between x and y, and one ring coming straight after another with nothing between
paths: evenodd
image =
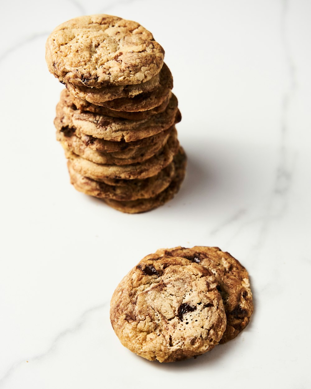
<instances>
[{"instance_id":1,"label":"white marble surface with gray veins beneath the cookies","mask_svg":"<svg viewBox=\"0 0 311 389\"><path fill-rule=\"evenodd\" d=\"M180 193L121 214L69 184L44 44L58 24L109 13L166 51L189 166ZM0 16L0 388L309 388L310 14L288 1L8 1ZM255 298L235 340L176 364L122 347L119 280L160 247L218 245ZM164 385L164 386L163 386Z\"/></svg>"}]
</instances>

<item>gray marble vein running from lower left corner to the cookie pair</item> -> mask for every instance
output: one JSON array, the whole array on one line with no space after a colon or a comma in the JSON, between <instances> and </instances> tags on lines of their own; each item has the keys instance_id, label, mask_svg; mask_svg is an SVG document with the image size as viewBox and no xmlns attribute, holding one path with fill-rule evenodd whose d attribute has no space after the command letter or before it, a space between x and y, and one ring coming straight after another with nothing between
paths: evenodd
<instances>
[{"instance_id":1,"label":"gray marble vein running from lower left corner to the cookie pair","mask_svg":"<svg viewBox=\"0 0 311 389\"><path fill-rule=\"evenodd\" d=\"M41 361L45 357L49 356L56 349L58 343L61 342L61 340L63 340L63 338L65 338L67 335L78 332L84 326L84 324L86 324L90 315L92 315L94 312L97 312L97 311L103 309L106 305L107 305L107 301L105 301L105 303L102 303L100 305L96 305L93 308L89 308L88 310L83 312L80 315L77 322L75 322L75 324L72 327L64 329L57 336L55 336L51 345L44 352L41 352L40 354L37 354L31 358L25 357L23 359L20 359L19 361L16 361L15 363L13 363L12 366L10 366L10 368L7 370L7 372L3 375L3 377L0 378L0 387L3 387L3 385L11 377L11 375L14 374L15 371L18 370L18 368L25 363L26 359L28 362L37 362L37 361Z\"/></svg>"}]
</instances>

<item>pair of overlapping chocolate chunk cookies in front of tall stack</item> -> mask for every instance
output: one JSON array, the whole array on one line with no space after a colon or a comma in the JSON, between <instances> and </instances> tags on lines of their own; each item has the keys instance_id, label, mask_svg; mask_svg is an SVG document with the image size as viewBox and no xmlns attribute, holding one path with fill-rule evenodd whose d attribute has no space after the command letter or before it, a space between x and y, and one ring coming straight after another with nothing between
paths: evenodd
<instances>
[{"instance_id":1,"label":"pair of overlapping chocolate chunk cookies in front of tall stack","mask_svg":"<svg viewBox=\"0 0 311 389\"><path fill-rule=\"evenodd\" d=\"M110 321L122 345L159 362L195 357L235 338L253 313L248 273L218 247L160 249L120 282Z\"/></svg>"}]
</instances>

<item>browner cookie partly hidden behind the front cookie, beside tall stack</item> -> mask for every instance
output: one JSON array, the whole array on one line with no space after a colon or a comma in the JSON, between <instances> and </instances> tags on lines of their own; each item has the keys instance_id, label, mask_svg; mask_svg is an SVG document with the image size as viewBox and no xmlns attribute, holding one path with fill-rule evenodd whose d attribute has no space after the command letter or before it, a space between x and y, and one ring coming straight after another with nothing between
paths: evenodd
<instances>
[{"instance_id":1,"label":"browner cookie partly hidden behind the front cookie, beside tall stack","mask_svg":"<svg viewBox=\"0 0 311 389\"><path fill-rule=\"evenodd\" d=\"M218 247L195 246L161 249L155 255L187 258L213 272L227 315L227 328L220 343L235 338L247 326L253 313L250 280L245 267L228 252Z\"/></svg>"}]
</instances>

